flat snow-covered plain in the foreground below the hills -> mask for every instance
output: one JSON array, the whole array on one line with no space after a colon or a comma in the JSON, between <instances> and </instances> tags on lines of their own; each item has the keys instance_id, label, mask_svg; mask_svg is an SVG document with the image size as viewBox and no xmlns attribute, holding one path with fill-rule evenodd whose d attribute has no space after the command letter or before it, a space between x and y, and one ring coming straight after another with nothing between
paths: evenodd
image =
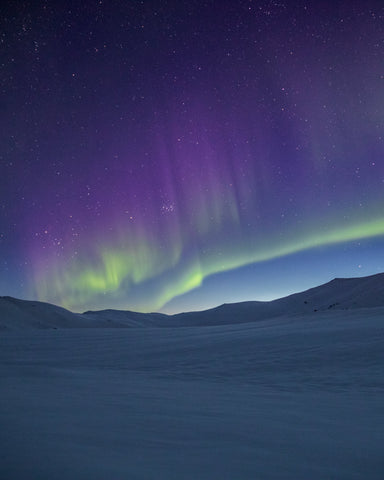
<instances>
[{"instance_id":1,"label":"flat snow-covered plain in the foreground below the hills","mask_svg":"<svg viewBox=\"0 0 384 480\"><path fill-rule=\"evenodd\" d=\"M384 478L384 308L225 323L3 330L0 478Z\"/></svg>"}]
</instances>

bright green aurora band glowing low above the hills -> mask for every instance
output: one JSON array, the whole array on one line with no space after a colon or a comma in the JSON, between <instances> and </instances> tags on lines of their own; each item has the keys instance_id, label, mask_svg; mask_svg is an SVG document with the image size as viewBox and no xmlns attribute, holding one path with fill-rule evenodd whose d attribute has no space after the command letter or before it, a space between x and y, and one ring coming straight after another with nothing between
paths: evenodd
<instances>
[{"instance_id":1,"label":"bright green aurora band glowing low above the hills","mask_svg":"<svg viewBox=\"0 0 384 480\"><path fill-rule=\"evenodd\" d=\"M362 222L343 228L307 234L291 238L286 244L271 241L269 247L248 243L241 248L236 245L222 245L222 255L212 249L211 254L195 256L182 262L181 245L167 251L155 244L142 242L134 247L103 249L97 265L92 262L73 262L72 265L57 269L39 279L40 300L59 303L78 310L79 306L90 306L98 294L108 294L111 307L114 299L127 296L133 285L155 281L153 295L142 305L126 305L126 308L140 311L154 311L162 308L176 296L199 287L208 276L229 271L252 263L272 260L312 248L384 235L384 219ZM162 275L166 275L165 279Z\"/></svg>"}]
</instances>

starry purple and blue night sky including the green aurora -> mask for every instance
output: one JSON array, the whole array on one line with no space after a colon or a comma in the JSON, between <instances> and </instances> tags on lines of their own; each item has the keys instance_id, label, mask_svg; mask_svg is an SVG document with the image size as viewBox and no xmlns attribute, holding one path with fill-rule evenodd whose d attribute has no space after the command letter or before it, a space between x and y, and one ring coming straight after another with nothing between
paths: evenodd
<instances>
[{"instance_id":1,"label":"starry purple and blue night sky including the green aurora","mask_svg":"<svg viewBox=\"0 0 384 480\"><path fill-rule=\"evenodd\" d=\"M5 1L0 294L174 313L384 271L382 1Z\"/></svg>"}]
</instances>

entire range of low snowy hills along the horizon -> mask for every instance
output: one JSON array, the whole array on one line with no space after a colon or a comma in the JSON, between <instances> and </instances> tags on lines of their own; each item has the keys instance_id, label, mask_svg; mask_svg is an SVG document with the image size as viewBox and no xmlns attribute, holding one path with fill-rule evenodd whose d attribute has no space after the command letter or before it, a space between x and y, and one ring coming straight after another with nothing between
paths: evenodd
<instances>
[{"instance_id":1,"label":"entire range of low snowy hills along the horizon","mask_svg":"<svg viewBox=\"0 0 384 480\"><path fill-rule=\"evenodd\" d=\"M384 307L384 273L360 278L335 278L324 285L270 302L224 304L210 310L176 315L125 310L80 314L49 303L0 297L0 329L223 325L371 307Z\"/></svg>"}]
</instances>

